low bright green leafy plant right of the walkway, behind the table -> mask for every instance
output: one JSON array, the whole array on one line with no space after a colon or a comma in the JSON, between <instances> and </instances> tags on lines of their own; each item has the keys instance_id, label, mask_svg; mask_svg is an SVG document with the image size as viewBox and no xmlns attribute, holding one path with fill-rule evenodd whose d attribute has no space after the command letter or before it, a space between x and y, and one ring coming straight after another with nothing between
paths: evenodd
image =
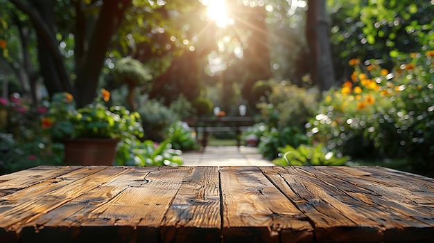
<instances>
[{"instance_id":1,"label":"low bright green leafy plant right of the walkway, behind the table","mask_svg":"<svg viewBox=\"0 0 434 243\"><path fill-rule=\"evenodd\" d=\"M280 158L274 159L272 163L280 166L319 166L319 165L344 165L347 161L345 156L336 156L335 153L327 151L321 144L316 146L300 145L294 148L290 145L279 148Z\"/></svg>"}]
</instances>

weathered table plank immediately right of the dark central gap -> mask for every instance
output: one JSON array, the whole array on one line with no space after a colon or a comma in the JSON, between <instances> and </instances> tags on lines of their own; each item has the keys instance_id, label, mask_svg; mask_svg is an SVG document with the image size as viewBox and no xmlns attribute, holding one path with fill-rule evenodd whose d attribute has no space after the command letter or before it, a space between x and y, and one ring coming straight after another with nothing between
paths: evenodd
<instances>
[{"instance_id":1,"label":"weathered table plank immediately right of the dark central gap","mask_svg":"<svg viewBox=\"0 0 434 243\"><path fill-rule=\"evenodd\" d=\"M311 242L306 216L256 167L220 168L224 242Z\"/></svg>"}]
</instances>

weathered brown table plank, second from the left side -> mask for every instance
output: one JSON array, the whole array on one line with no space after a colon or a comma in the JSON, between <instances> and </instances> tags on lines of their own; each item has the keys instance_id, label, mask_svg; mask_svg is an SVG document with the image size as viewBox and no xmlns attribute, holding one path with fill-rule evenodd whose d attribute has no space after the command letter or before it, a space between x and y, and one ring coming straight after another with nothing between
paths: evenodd
<instances>
[{"instance_id":1,"label":"weathered brown table plank, second from the left side","mask_svg":"<svg viewBox=\"0 0 434 243\"><path fill-rule=\"evenodd\" d=\"M120 168L81 168L1 197L0 218L5 220L0 222L0 227L19 232L23 224L79 197L99 183L116 176L119 170Z\"/></svg>"}]
</instances>

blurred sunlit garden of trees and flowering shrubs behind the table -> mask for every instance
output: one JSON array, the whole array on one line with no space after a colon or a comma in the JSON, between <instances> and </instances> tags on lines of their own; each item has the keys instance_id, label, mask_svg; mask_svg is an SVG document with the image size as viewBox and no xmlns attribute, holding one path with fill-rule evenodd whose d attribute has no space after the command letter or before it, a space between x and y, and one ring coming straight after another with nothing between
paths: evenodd
<instances>
[{"instance_id":1,"label":"blurred sunlit garden of trees and flowering shrubs behind the table","mask_svg":"<svg viewBox=\"0 0 434 243\"><path fill-rule=\"evenodd\" d=\"M0 174L63 165L79 137L116 138L113 165L182 165L200 149L182 120L243 105L243 143L277 165L434 177L434 1L0 6Z\"/></svg>"}]
</instances>

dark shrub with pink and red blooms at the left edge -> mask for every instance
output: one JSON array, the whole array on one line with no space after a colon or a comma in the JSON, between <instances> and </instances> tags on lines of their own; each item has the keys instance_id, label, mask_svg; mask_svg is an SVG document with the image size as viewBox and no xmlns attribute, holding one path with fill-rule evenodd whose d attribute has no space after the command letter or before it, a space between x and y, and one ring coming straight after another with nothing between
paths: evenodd
<instances>
[{"instance_id":1,"label":"dark shrub with pink and red blooms at the left edge","mask_svg":"<svg viewBox=\"0 0 434 243\"><path fill-rule=\"evenodd\" d=\"M0 98L0 174L61 163L61 148L41 129L46 111L18 93Z\"/></svg>"}]
</instances>

